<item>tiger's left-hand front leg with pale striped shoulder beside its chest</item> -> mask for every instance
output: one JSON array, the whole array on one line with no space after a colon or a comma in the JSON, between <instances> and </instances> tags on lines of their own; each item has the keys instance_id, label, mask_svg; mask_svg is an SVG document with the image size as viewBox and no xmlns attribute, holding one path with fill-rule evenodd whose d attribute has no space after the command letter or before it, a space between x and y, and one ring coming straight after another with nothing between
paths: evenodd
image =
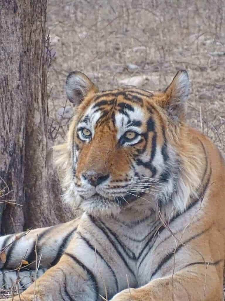
<instances>
[{"instance_id":1,"label":"tiger's left-hand front leg with pale striped shoulder beside its chest","mask_svg":"<svg viewBox=\"0 0 225 301\"><path fill-rule=\"evenodd\" d=\"M13 300L100 301L101 296L110 300L127 287L126 275L132 286L137 285L132 262L122 252L118 257L118 252L116 244L107 242L104 232L84 216L59 262Z\"/></svg>"}]
</instances>

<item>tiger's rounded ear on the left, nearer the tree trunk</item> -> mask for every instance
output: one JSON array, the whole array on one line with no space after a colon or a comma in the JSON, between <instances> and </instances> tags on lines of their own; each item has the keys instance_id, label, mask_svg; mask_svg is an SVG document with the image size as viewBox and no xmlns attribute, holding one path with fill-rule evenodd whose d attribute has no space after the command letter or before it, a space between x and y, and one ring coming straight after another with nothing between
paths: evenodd
<instances>
[{"instance_id":1,"label":"tiger's rounded ear on the left, nearer the tree trunk","mask_svg":"<svg viewBox=\"0 0 225 301\"><path fill-rule=\"evenodd\" d=\"M70 102L74 106L79 105L90 92L98 92L93 82L82 72L70 72L66 79L66 94Z\"/></svg>"}]
</instances>

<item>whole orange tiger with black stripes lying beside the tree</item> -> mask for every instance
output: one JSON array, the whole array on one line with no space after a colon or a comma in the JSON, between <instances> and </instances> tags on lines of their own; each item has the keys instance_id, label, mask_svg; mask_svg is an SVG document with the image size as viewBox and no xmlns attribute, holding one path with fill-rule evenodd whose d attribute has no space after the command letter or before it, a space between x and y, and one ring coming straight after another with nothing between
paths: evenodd
<instances>
[{"instance_id":1,"label":"whole orange tiger with black stripes lying beside the tree","mask_svg":"<svg viewBox=\"0 0 225 301\"><path fill-rule=\"evenodd\" d=\"M0 238L0 285L21 290L7 300L222 301L225 163L187 123L187 71L161 91L99 91L71 72L66 93L55 163L83 213Z\"/></svg>"}]
</instances>

